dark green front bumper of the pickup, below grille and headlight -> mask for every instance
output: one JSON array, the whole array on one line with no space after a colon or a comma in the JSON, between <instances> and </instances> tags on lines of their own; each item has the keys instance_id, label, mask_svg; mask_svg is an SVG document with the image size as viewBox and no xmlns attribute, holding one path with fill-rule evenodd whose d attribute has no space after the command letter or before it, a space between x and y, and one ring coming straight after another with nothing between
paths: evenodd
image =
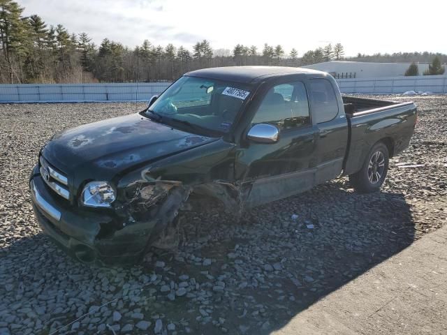
<instances>
[{"instance_id":1,"label":"dark green front bumper of the pickup, below grille and headlight","mask_svg":"<svg viewBox=\"0 0 447 335\"><path fill-rule=\"evenodd\" d=\"M105 265L138 262L142 257L152 225L126 225L113 212L73 207L47 188L37 165L29 186L39 225L68 255Z\"/></svg>"}]
</instances>

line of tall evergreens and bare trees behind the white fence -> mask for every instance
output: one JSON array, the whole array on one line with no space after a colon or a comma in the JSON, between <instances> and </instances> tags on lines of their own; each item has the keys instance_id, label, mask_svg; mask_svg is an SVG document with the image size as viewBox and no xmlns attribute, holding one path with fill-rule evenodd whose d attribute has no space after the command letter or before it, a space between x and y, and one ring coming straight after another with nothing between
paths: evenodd
<instances>
[{"instance_id":1,"label":"line of tall evergreens and bare trees behind the white fence","mask_svg":"<svg viewBox=\"0 0 447 335\"><path fill-rule=\"evenodd\" d=\"M281 45L268 43L261 50L242 44L213 50L208 40L198 41L191 50L172 43L152 45L149 40L134 48L108 38L95 45L86 33L71 34L61 24L49 26L38 15L24 17L23 10L15 1L0 0L0 83L147 82L174 80L189 70L214 66L303 66L345 59L341 43L301 56L295 48L286 53ZM359 54L349 60L390 57L395 56Z\"/></svg>"}]
</instances>

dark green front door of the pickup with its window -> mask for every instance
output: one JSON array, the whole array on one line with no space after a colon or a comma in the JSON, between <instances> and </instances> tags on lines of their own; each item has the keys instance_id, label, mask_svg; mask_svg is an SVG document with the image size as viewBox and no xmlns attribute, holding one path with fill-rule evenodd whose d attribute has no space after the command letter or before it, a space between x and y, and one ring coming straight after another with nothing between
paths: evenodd
<instances>
[{"instance_id":1,"label":"dark green front door of the pickup with its window","mask_svg":"<svg viewBox=\"0 0 447 335\"><path fill-rule=\"evenodd\" d=\"M256 124L276 126L279 136L271 143L252 138L238 149L236 179L247 207L312 188L318 128L312 124L305 84L285 82L271 87L251 120L251 127Z\"/></svg>"}]
</instances>

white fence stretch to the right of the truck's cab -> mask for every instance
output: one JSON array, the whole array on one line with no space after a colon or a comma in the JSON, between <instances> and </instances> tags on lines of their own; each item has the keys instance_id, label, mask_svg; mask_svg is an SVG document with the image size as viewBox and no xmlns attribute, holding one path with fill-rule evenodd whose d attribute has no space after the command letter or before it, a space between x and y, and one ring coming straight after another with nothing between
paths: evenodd
<instances>
[{"instance_id":1,"label":"white fence stretch to the right of the truck's cab","mask_svg":"<svg viewBox=\"0 0 447 335\"><path fill-rule=\"evenodd\" d=\"M447 93L446 75L337 79L342 93L402 94L406 91Z\"/></svg>"}]
</instances>

